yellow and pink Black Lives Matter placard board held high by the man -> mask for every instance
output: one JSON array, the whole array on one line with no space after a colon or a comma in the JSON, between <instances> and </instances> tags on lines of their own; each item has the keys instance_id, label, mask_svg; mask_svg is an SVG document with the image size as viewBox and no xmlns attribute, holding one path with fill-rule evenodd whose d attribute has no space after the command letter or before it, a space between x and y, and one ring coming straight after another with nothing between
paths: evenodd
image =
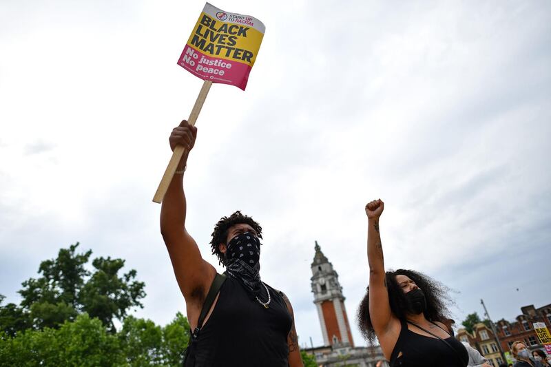
<instances>
[{"instance_id":1,"label":"yellow and pink Black Lives Matter placard board held high by the man","mask_svg":"<svg viewBox=\"0 0 551 367\"><path fill-rule=\"evenodd\" d=\"M265 30L256 18L206 3L178 65L205 81L245 90Z\"/></svg>"}]
</instances>

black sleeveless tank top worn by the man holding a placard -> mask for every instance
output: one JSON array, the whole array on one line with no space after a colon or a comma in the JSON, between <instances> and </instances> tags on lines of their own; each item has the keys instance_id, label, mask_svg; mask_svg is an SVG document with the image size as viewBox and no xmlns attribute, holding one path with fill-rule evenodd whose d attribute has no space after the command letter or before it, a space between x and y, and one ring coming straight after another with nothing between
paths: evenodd
<instances>
[{"instance_id":1,"label":"black sleeveless tank top worn by the man holding a placard","mask_svg":"<svg viewBox=\"0 0 551 367\"><path fill-rule=\"evenodd\" d=\"M291 315L279 292L268 289L271 302L264 308L239 280L227 277L199 333L196 367L289 366ZM267 295L260 300L267 301Z\"/></svg>"}]
</instances>

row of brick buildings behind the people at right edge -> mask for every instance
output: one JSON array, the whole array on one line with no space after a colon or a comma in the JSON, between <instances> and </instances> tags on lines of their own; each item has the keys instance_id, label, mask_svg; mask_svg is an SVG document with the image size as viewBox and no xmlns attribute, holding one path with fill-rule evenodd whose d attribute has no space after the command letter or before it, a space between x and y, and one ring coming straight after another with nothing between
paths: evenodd
<instances>
[{"instance_id":1,"label":"row of brick buildings behind the people at right edge","mask_svg":"<svg viewBox=\"0 0 551 367\"><path fill-rule=\"evenodd\" d=\"M551 304L535 308L534 305L521 307L521 315L514 322L500 319L495 323L497 337L501 343L503 352L511 350L511 345L517 340L526 344L530 350L542 349L539 339L534 331L534 322L544 322L551 331ZM461 342L467 342L486 357L492 366L498 366L501 361L501 353L497 346L497 340L492 329L484 323L476 324L473 333L468 333L464 328L459 329L456 335Z\"/></svg>"}]
</instances>

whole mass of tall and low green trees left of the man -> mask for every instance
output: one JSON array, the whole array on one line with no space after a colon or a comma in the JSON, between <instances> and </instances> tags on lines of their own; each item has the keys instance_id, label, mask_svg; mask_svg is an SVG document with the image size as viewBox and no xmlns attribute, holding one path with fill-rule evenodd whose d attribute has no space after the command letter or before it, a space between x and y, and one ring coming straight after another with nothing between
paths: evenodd
<instances>
[{"instance_id":1,"label":"whole mass of tall and low green trees left of the man","mask_svg":"<svg viewBox=\"0 0 551 367\"><path fill-rule=\"evenodd\" d=\"M129 315L142 307L136 271L119 275L124 260L61 249L23 282L19 305L2 305L0 366L180 366L189 341L181 313L164 327ZM114 320L121 323L120 330Z\"/></svg>"}]
</instances>

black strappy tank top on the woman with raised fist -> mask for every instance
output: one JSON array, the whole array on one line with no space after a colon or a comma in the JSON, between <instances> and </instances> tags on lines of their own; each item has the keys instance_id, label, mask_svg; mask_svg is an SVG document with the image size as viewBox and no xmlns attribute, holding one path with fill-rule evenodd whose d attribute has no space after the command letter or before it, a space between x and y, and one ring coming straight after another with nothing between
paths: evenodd
<instances>
[{"instance_id":1,"label":"black strappy tank top on the woman with raised fist","mask_svg":"<svg viewBox=\"0 0 551 367\"><path fill-rule=\"evenodd\" d=\"M466 367L469 356L466 348L448 337L446 343L435 337L427 337L410 331L408 324L400 320L402 330L391 354L391 367ZM450 348L451 347L451 348ZM402 355L398 355L402 352Z\"/></svg>"}]
</instances>

